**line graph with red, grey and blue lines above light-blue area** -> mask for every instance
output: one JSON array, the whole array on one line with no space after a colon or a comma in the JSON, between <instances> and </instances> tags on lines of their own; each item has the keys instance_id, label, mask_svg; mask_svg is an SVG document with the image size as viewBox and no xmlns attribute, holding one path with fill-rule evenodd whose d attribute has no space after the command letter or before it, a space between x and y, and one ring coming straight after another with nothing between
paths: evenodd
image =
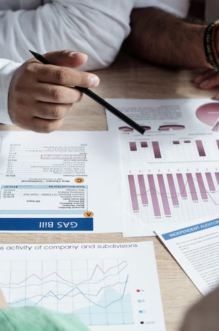
<instances>
[{"instance_id":1,"label":"line graph with red, grey and blue lines above light-blue area","mask_svg":"<svg viewBox=\"0 0 219 331\"><path fill-rule=\"evenodd\" d=\"M11 307L76 313L87 325L133 323L125 259L1 261L0 287Z\"/></svg>"}]
</instances>

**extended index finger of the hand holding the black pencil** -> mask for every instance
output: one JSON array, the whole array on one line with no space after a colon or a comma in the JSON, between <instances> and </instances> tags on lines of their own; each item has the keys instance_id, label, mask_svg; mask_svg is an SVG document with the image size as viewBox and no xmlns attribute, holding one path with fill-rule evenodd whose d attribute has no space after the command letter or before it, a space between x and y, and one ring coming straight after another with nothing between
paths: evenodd
<instances>
[{"instance_id":1,"label":"extended index finger of the hand holding the black pencil","mask_svg":"<svg viewBox=\"0 0 219 331\"><path fill-rule=\"evenodd\" d=\"M99 84L94 74L52 64L36 64L35 76L40 82L56 85L94 87Z\"/></svg>"}]
</instances>

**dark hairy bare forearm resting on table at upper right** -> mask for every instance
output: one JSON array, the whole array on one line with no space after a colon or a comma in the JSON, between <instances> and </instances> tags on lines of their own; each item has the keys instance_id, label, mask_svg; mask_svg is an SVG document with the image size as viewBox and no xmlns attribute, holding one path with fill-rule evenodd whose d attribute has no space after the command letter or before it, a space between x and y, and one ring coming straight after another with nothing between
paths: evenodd
<instances>
[{"instance_id":1,"label":"dark hairy bare forearm resting on table at upper right","mask_svg":"<svg viewBox=\"0 0 219 331\"><path fill-rule=\"evenodd\" d=\"M205 28L156 8L135 9L128 42L132 53L153 63L211 68L203 47Z\"/></svg>"}]
</instances>

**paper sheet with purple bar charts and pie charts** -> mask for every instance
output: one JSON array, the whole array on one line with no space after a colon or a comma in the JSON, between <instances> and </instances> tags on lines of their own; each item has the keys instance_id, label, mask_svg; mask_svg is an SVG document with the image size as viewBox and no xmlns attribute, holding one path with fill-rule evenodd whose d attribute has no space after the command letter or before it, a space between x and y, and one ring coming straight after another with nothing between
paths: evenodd
<instances>
[{"instance_id":1,"label":"paper sheet with purple bar charts and pie charts","mask_svg":"<svg viewBox=\"0 0 219 331\"><path fill-rule=\"evenodd\" d=\"M125 231L155 229L219 211L219 103L211 99L108 102L144 126L143 136L107 112L120 131Z\"/></svg>"}]
</instances>

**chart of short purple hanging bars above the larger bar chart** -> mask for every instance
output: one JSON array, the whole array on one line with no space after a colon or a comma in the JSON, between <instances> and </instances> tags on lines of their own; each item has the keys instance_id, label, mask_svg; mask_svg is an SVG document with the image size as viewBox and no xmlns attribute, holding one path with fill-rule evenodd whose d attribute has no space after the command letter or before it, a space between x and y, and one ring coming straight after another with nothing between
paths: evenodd
<instances>
[{"instance_id":1,"label":"chart of short purple hanging bars above the larger bar chart","mask_svg":"<svg viewBox=\"0 0 219 331\"><path fill-rule=\"evenodd\" d=\"M148 160L168 161L171 159L184 161L202 161L218 159L219 140L216 144L212 138L178 139L178 140L142 140L127 143L130 161ZM213 153L212 153L213 150Z\"/></svg>"}]
</instances>

